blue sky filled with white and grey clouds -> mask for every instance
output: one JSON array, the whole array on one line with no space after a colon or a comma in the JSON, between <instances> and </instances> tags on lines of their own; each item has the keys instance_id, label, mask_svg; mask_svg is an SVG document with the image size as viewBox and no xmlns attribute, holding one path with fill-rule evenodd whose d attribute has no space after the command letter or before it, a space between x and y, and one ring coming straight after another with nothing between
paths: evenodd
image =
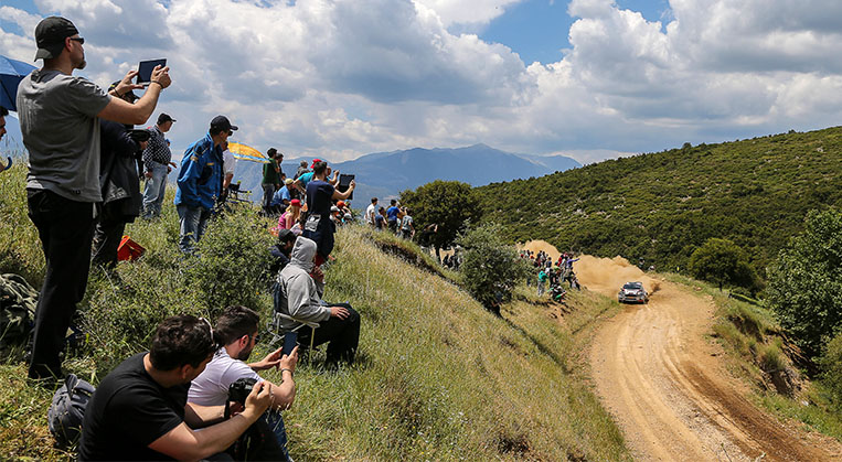
<instances>
[{"instance_id":1,"label":"blue sky filled with white and grey clouds","mask_svg":"<svg viewBox=\"0 0 842 462\"><path fill-rule=\"evenodd\" d=\"M32 62L50 14L100 86L168 60L177 151L217 114L288 158L481 142L583 163L842 116L839 0L2 0L0 55Z\"/></svg>"}]
</instances>

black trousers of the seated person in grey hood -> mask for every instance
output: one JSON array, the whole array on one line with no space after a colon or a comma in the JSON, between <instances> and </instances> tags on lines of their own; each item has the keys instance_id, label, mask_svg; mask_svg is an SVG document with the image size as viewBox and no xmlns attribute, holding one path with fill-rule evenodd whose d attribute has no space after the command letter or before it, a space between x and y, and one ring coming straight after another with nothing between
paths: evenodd
<instances>
[{"instance_id":1,"label":"black trousers of the seated person in grey hood","mask_svg":"<svg viewBox=\"0 0 842 462\"><path fill-rule=\"evenodd\" d=\"M344 307L348 309L349 316L344 320L331 316L329 320L320 322L316 330L313 345L318 346L330 342L328 344L328 363L335 364L340 361L353 363L356 345L360 344L360 314L348 303L332 303L330 307ZM309 346L311 332L307 326L301 327L298 343Z\"/></svg>"}]
</instances>

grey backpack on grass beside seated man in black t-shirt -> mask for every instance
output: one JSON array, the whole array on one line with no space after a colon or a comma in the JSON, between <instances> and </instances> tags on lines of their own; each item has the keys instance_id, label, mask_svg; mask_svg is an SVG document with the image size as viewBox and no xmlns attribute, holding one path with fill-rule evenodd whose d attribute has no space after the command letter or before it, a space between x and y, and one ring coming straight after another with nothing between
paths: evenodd
<instances>
[{"instance_id":1,"label":"grey backpack on grass beside seated man in black t-shirt","mask_svg":"<svg viewBox=\"0 0 842 462\"><path fill-rule=\"evenodd\" d=\"M85 407L94 395L93 385L70 374L53 395L53 404L46 411L50 432L60 448L66 449L78 441Z\"/></svg>"}]
</instances>

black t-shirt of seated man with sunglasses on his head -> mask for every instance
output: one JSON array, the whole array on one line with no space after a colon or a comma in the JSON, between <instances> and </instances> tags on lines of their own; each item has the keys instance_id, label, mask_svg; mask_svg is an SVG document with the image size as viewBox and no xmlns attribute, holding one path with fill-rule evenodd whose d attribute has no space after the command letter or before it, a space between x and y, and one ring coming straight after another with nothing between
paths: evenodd
<instances>
[{"instance_id":1,"label":"black t-shirt of seated man with sunglasses on his head","mask_svg":"<svg viewBox=\"0 0 842 462\"><path fill-rule=\"evenodd\" d=\"M172 460L149 444L184 421L190 384L163 388L139 353L111 370L85 408L79 461Z\"/></svg>"}]
</instances>

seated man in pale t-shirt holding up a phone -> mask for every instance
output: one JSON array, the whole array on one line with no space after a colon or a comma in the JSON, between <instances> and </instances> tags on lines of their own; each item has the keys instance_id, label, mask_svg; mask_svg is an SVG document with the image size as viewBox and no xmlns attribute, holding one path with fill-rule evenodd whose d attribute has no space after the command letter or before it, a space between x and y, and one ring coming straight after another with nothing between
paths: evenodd
<instances>
[{"instance_id":1,"label":"seated man in pale t-shirt holding up a phone","mask_svg":"<svg viewBox=\"0 0 842 462\"><path fill-rule=\"evenodd\" d=\"M298 362L298 347L288 356L280 355L281 348L269 353L257 363L246 364L258 342L260 316L245 307L228 307L216 321L213 331L216 341L223 345L213 355L204 372L193 379L188 393L188 401L200 406L224 406L228 399L228 387L241 378L260 380L257 370L280 368L280 385L271 386L270 410L260 417L255 431L262 438L252 439L247 459L289 460L287 432L280 411L292 405L296 384L292 373ZM268 382L266 382L268 384Z\"/></svg>"}]
</instances>

